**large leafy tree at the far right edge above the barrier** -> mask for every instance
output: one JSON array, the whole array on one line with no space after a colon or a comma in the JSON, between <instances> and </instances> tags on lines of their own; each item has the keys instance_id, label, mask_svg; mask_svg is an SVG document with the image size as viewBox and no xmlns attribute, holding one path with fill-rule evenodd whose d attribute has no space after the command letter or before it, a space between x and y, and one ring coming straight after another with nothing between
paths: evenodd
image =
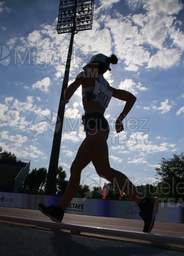
<instances>
[{"instance_id":1,"label":"large leafy tree at the far right edge above the barrier","mask_svg":"<svg viewBox=\"0 0 184 256\"><path fill-rule=\"evenodd\" d=\"M159 197L177 202L184 200L184 155L173 154L172 158L162 158L160 167L155 168Z\"/></svg>"}]
</instances>

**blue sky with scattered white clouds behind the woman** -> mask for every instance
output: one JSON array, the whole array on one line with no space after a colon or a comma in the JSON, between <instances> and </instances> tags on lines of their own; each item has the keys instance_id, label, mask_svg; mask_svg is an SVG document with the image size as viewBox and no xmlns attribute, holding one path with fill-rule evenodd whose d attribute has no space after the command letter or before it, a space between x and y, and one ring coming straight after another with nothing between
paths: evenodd
<instances>
[{"instance_id":1,"label":"blue sky with scattered white clouds behind the woman","mask_svg":"<svg viewBox=\"0 0 184 256\"><path fill-rule=\"evenodd\" d=\"M179 0L95 0L92 30L74 36L69 84L92 55L119 59L104 75L110 85L137 101L116 134L124 102L112 99L109 159L136 185L153 183L161 158L183 152L184 2ZM32 168L50 160L70 33L57 34L59 1L0 1L0 146ZM65 108L59 165L70 165L85 137L81 87ZM104 185L92 164L81 184Z\"/></svg>"}]
</instances>

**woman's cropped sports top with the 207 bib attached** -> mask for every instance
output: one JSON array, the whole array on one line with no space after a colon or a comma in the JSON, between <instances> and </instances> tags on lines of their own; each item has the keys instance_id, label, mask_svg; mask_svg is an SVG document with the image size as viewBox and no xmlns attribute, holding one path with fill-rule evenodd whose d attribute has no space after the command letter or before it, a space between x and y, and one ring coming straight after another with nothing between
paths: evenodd
<instances>
[{"instance_id":1,"label":"woman's cropped sports top with the 207 bib attached","mask_svg":"<svg viewBox=\"0 0 184 256\"><path fill-rule=\"evenodd\" d=\"M109 83L105 80L104 76L98 75L95 85L82 87L82 102L93 101L106 109L112 97L112 92L108 88Z\"/></svg>"}]
</instances>

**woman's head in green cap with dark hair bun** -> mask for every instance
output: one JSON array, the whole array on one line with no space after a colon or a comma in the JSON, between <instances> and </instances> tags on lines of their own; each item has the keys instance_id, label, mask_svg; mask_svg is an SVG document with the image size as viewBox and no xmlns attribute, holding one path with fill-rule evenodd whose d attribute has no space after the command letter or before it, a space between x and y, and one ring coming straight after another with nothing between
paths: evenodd
<instances>
[{"instance_id":1,"label":"woman's head in green cap with dark hair bun","mask_svg":"<svg viewBox=\"0 0 184 256\"><path fill-rule=\"evenodd\" d=\"M94 55L83 69L86 71L88 68L91 68L91 65L89 67L89 64L93 64L93 67L98 68L98 73L103 75L107 70L111 71L110 63L117 64L117 61L118 59L114 54L112 54L111 57L107 57L106 55L99 53Z\"/></svg>"}]
</instances>

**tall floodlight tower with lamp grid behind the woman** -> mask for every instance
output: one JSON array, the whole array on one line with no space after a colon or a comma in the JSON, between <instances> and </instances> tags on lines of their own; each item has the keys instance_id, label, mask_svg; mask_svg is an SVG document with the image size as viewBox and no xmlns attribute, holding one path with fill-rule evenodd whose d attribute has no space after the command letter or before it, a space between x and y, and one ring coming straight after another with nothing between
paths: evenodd
<instances>
[{"instance_id":1,"label":"tall floodlight tower with lamp grid behind the woman","mask_svg":"<svg viewBox=\"0 0 184 256\"><path fill-rule=\"evenodd\" d=\"M92 29L93 24L93 7L94 0L60 0L59 15L57 22L58 34L71 33L69 51L65 67L65 74L63 78L63 86L61 89L60 101L64 98L64 91L68 86L70 62L72 57L72 48L74 41L74 34L82 30ZM57 168L59 162L59 152L61 145L63 120L65 108L59 104L57 112L57 120L54 131L54 138L52 143L52 150L50 156L50 163L48 168L48 176L46 181L45 194L55 195ZM58 131L58 124L60 128Z\"/></svg>"}]
</instances>

